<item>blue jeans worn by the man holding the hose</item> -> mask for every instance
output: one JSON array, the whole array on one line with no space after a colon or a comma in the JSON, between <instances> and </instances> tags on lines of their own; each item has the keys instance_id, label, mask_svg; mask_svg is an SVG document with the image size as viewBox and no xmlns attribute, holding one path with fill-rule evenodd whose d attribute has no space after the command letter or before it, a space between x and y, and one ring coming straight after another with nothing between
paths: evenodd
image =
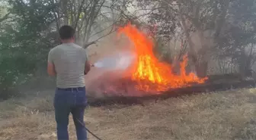
<instances>
[{"instance_id":1,"label":"blue jeans worn by the man holding the hose","mask_svg":"<svg viewBox=\"0 0 256 140\"><path fill-rule=\"evenodd\" d=\"M56 89L54 97L55 119L58 140L69 140L69 114L72 114L78 140L87 140L87 132L83 125L85 107L85 87L72 89ZM82 124L81 124L82 123Z\"/></svg>"}]
</instances>

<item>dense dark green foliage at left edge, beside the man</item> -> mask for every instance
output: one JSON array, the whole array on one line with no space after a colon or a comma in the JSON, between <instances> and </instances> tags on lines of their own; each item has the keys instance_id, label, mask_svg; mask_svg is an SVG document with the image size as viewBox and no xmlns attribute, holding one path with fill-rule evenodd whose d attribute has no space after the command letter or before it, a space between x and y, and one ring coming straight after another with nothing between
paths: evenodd
<instances>
[{"instance_id":1,"label":"dense dark green foliage at left edge, beside the man","mask_svg":"<svg viewBox=\"0 0 256 140\"><path fill-rule=\"evenodd\" d=\"M21 84L21 77L26 80L39 65L46 65L48 51L54 45L43 32L53 23L55 5L34 0L13 0L9 5L11 22L1 26L0 33L0 98L8 98L10 90Z\"/></svg>"}]
</instances>

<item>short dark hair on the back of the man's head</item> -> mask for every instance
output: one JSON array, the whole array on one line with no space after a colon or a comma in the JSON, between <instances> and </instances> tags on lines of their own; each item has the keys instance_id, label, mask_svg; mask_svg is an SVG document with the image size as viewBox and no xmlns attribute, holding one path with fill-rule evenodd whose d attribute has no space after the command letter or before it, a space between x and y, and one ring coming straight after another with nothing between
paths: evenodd
<instances>
[{"instance_id":1,"label":"short dark hair on the back of the man's head","mask_svg":"<svg viewBox=\"0 0 256 140\"><path fill-rule=\"evenodd\" d=\"M72 26L64 25L59 28L60 39L71 39L75 35L75 30Z\"/></svg>"}]
</instances>

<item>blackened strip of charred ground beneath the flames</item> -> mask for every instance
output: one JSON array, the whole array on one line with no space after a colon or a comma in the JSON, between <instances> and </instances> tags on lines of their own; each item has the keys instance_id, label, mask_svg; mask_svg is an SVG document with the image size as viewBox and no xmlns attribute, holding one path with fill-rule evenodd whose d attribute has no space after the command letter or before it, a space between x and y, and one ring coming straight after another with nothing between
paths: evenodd
<instances>
[{"instance_id":1,"label":"blackened strip of charred ground beneath the flames","mask_svg":"<svg viewBox=\"0 0 256 140\"><path fill-rule=\"evenodd\" d=\"M137 82L131 79L119 79L115 81L107 81L108 84L101 83L102 95L99 98L93 97L94 91L89 96L88 103L91 106L103 106L111 104L143 104L145 101L158 101L167 98L177 98L182 95L192 95L199 93L209 93L225 91L230 89L242 89L255 86L255 81L251 77L242 79L238 74L212 75L203 84L193 84L183 88L168 89L165 92L146 92L136 91Z\"/></svg>"}]
</instances>

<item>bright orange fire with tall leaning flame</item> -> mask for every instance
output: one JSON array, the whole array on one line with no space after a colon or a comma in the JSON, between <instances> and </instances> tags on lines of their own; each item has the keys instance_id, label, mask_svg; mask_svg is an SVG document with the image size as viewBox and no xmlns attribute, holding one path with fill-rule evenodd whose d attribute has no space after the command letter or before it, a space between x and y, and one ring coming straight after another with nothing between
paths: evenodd
<instances>
[{"instance_id":1,"label":"bright orange fire with tall leaning flame","mask_svg":"<svg viewBox=\"0 0 256 140\"><path fill-rule=\"evenodd\" d=\"M136 87L142 91L165 91L167 89L190 86L191 83L203 83L207 78L200 79L194 73L186 73L187 54L180 63L180 74L172 73L171 64L158 61L153 54L153 42L146 34L137 30L130 23L121 27L119 33L125 34L134 44L136 62L134 63L133 81L138 82Z\"/></svg>"}]
</instances>

